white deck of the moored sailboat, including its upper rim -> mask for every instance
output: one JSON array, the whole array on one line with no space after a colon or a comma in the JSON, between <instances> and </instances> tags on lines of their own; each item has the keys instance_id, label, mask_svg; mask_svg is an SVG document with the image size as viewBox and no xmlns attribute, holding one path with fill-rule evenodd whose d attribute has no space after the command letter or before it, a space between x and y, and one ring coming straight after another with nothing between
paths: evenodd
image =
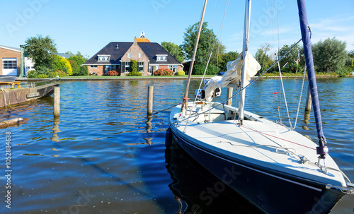
<instances>
[{"instance_id":1,"label":"white deck of the moored sailboat, including its upper rim","mask_svg":"<svg viewBox=\"0 0 354 214\"><path fill-rule=\"evenodd\" d=\"M174 111L178 112L178 109ZM346 186L341 172L328 170L328 174L325 174L314 165L318 161L317 145L309 138L250 112L245 112L247 117L252 117L251 120L245 120L243 126L234 119L221 119L229 117L232 112L236 112L236 109L213 109L211 114L195 116L198 119L179 119L175 127L181 136L185 136L186 141L227 160L241 160L324 184ZM215 118L215 121L204 120L204 117ZM302 163L300 157L306 157L309 162ZM338 169L329 155L326 155L326 167Z\"/></svg>"}]
</instances>

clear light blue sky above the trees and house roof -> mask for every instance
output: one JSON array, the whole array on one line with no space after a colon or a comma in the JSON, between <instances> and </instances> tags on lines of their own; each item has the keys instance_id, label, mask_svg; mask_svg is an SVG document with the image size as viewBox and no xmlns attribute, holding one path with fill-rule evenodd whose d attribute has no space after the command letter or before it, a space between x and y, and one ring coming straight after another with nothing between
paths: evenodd
<instances>
[{"instance_id":1,"label":"clear light blue sky above the trees and house roof","mask_svg":"<svg viewBox=\"0 0 354 214\"><path fill-rule=\"evenodd\" d=\"M338 1L339 2L339 1ZM183 44L185 29L200 20L204 0L0 1L0 45L19 47L28 37L50 36L59 53L92 57L109 42L133 42L142 31L151 42ZM244 0L209 0L208 28L229 51L241 52ZM312 42L336 37L354 49L354 0L307 0ZM224 20L224 21L223 21ZM250 52L274 50L300 39L297 1L253 0Z\"/></svg>"}]
</instances>

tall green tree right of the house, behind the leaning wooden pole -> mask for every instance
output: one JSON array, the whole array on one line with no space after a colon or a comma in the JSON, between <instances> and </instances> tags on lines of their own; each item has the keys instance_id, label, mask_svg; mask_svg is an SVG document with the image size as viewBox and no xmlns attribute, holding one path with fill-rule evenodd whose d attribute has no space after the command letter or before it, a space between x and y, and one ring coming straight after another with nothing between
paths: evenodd
<instances>
[{"instance_id":1,"label":"tall green tree right of the house, behind the leaning wooden pole","mask_svg":"<svg viewBox=\"0 0 354 214\"><path fill-rule=\"evenodd\" d=\"M195 46L195 41L197 40L199 23L195 23L185 29L183 36L183 51L185 52L185 57L187 59L192 59L193 49ZM207 22L202 23L202 31L200 32L200 39L197 49L197 54L195 57L195 64L207 64L207 60L212 52L212 57L210 59L210 64L218 64L218 55L224 54L224 45L217 40L217 36L214 34L213 30L207 29Z\"/></svg>"}]
</instances>

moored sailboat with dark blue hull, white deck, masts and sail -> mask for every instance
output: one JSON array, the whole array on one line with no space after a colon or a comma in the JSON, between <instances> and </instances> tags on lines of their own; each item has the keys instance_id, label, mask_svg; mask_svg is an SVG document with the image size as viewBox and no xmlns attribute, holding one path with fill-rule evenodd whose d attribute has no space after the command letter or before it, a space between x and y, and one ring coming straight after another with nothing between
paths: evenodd
<instances>
[{"instance_id":1,"label":"moored sailboat with dark blue hull, white deck, masts and sail","mask_svg":"<svg viewBox=\"0 0 354 214\"><path fill-rule=\"evenodd\" d=\"M228 63L224 76L208 81L196 93L195 102L188 102L189 76L183 103L171 110L166 132L166 139L173 137L200 165L264 213L329 213L344 195L354 193L354 185L325 146L305 0L297 0L297 4L318 144L279 122L244 109L245 89L261 68L248 52L251 0L246 0L240 57ZM200 27L206 5L207 0ZM194 58L195 52L190 69ZM223 87L240 88L238 107L212 102Z\"/></svg>"}]
</instances>

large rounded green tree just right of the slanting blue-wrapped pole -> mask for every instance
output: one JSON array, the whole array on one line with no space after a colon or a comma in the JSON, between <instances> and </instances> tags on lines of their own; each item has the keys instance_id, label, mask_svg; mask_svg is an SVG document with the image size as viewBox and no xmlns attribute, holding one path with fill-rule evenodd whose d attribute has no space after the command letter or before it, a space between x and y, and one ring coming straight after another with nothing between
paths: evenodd
<instances>
[{"instance_id":1,"label":"large rounded green tree just right of the slanting blue-wrapped pole","mask_svg":"<svg viewBox=\"0 0 354 214\"><path fill-rule=\"evenodd\" d=\"M348 54L346 42L337 40L336 37L319 40L312 45L314 66L318 72L340 71L344 68Z\"/></svg>"}]
</instances>

